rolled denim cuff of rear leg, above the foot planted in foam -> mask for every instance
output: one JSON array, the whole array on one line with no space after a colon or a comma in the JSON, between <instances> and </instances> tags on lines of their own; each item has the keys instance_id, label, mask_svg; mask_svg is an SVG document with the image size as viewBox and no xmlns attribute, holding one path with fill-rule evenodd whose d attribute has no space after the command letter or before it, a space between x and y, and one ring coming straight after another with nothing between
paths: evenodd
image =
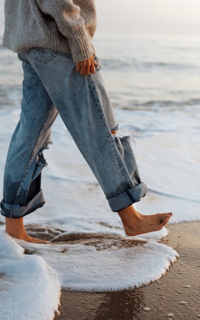
<instances>
[{"instance_id":1,"label":"rolled denim cuff of rear leg, above the foot planted in foam","mask_svg":"<svg viewBox=\"0 0 200 320\"><path fill-rule=\"evenodd\" d=\"M45 204L42 190L40 190L36 196L30 200L27 204L20 206L19 204L8 204L2 200L1 202L1 214L7 218L22 218L27 214L35 211Z\"/></svg>"}]
</instances>

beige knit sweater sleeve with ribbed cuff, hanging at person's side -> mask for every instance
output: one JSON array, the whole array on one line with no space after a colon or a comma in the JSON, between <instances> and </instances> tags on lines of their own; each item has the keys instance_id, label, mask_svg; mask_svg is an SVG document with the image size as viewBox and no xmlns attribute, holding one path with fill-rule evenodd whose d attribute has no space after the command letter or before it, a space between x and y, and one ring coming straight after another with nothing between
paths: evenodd
<instances>
[{"instance_id":1,"label":"beige knit sweater sleeve with ribbed cuff, hanging at person's side","mask_svg":"<svg viewBox=\"0 0 200 320\"><path fill-rule=\"evenodd\" d=\"M92 40L85 29L80 7L72 0L36 0L43 14L50 15L60 33L68 39L74 61L83 61L94 53Z\"/></svg>"}]
</instances>

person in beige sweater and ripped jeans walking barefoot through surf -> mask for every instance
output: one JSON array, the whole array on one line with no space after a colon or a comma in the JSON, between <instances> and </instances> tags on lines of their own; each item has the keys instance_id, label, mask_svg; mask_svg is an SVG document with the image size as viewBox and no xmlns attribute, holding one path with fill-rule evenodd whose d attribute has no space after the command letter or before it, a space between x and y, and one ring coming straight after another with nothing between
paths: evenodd
<instances>
[{"instance_id":1,"label":"person in beige sweater and ripped jeans walking barefoot through surf","mask_svg":"<svg viewBox=\"0 0 200 320\"><path fill-rule=\"evenodd\" d=\"M43 150L59 113L125 233L161 229L172 213L142 215L133 204L145 196L128 136L119 137L92 38L94 0L5 0L3 46L18 53L24 71L21 114L4 171L1 214L6 231L27 242L23 217L44 204ZM58 195L59 196L59 195Z\"/></svg>"}]
</instances>

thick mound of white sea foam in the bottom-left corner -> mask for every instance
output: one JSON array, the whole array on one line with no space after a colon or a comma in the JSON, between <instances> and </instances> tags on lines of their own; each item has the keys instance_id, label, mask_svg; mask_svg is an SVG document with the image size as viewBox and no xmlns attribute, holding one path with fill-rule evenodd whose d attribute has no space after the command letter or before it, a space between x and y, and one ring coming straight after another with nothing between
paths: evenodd
<instances>
[{"instance_id":1,"label":"thick mound of white sea foam in the bottom-left corner","mask_svg":"<svg viewBox=\"0 0 200 320\"><path fill-rule=\"evenodd\" d=\"M24 249L3 228L0 277L0 320L54 318L60 303L60 282L53 268L39 255L24 254Z\"/></svg>"}]
</instances>

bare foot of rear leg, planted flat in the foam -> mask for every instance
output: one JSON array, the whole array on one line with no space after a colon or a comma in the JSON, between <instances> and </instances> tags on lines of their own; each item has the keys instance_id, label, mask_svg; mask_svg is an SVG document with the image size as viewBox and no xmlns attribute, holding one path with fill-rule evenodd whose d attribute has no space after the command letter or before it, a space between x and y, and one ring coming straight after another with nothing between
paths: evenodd
<instances>
[{"instance_id":1,"label":"bare foot of rear leg, planted flat in the foam","mask_svg":"<svg viewBox=\"0 0 200 320\"><path fill-rule=\"evenodd\" d=\"M23 218L5 218L5 230L12 237L31 243L50 243L45 240L29 237L24 229Z\"/></svg>"}]
</instances>

